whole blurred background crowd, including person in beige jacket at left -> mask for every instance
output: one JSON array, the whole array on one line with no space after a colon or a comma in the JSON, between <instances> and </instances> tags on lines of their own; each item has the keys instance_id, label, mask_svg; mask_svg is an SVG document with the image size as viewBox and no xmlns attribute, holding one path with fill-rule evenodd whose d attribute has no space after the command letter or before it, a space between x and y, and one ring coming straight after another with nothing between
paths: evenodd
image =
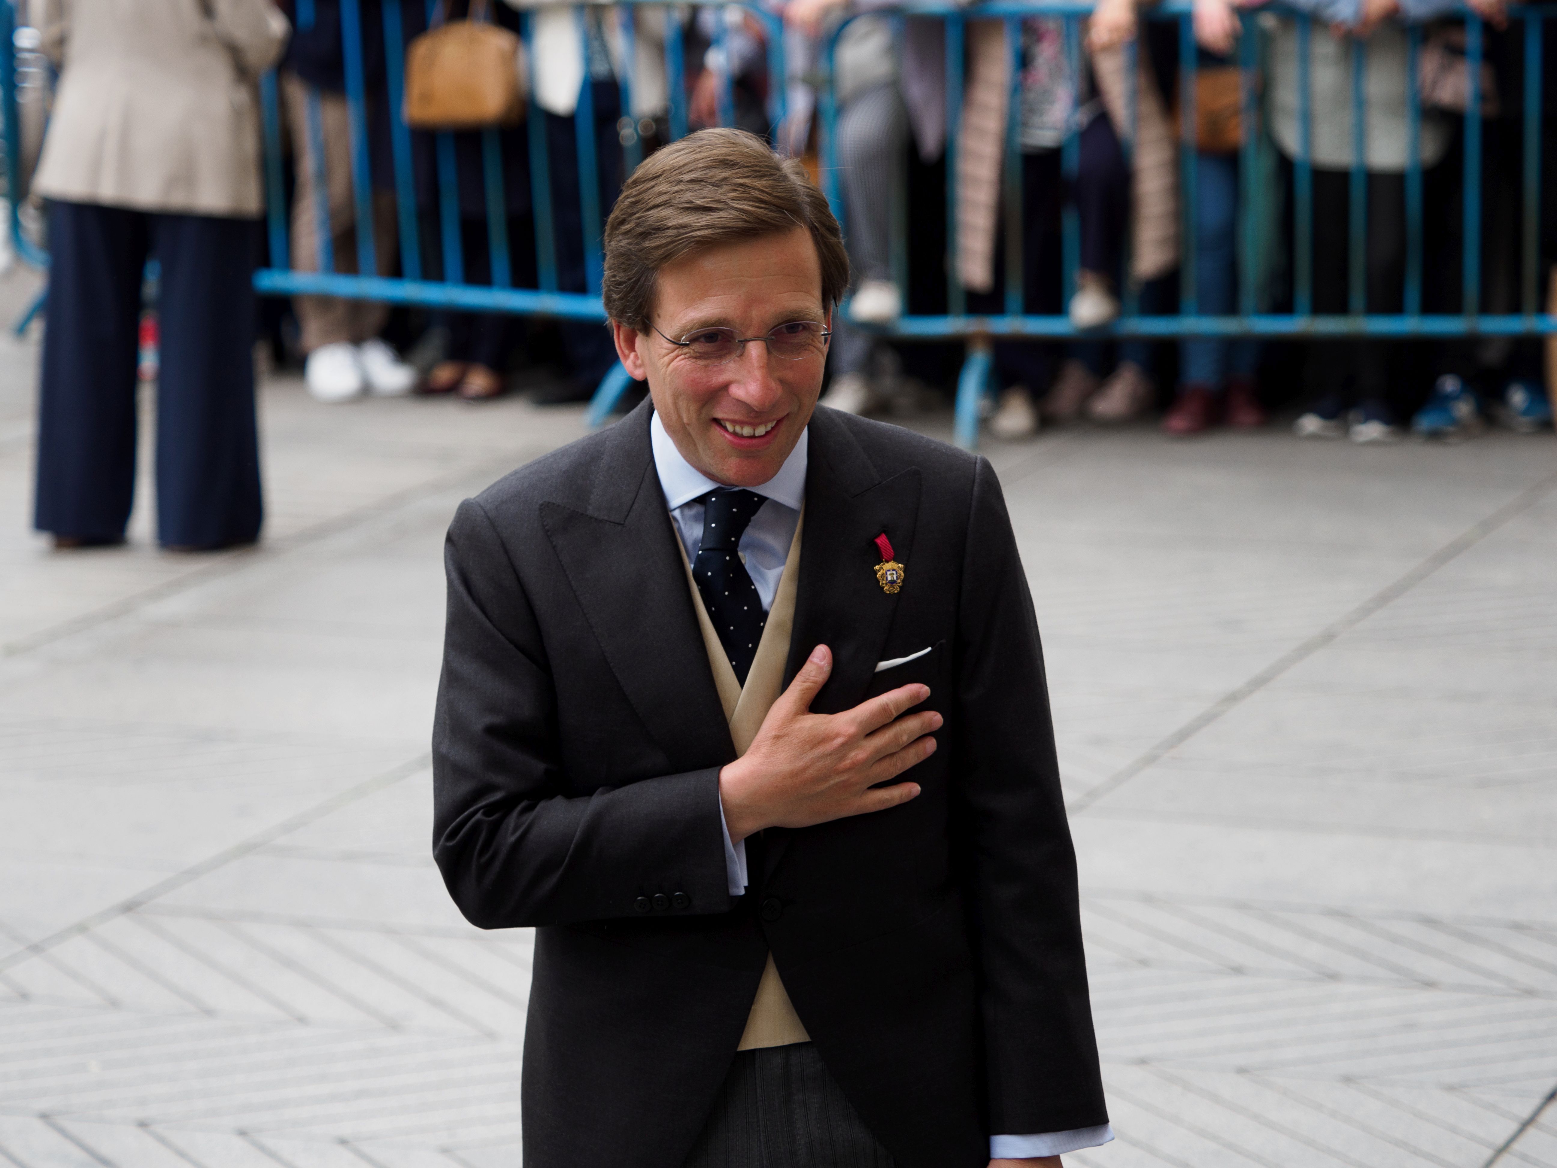
<instances>
[{"instance_id":1,"label":"whole blurred background crowd, including person in beige jacket at left","mask_svg":"<svg viewBox=\"0 0 1557 1168\"><path fill-rule=\"evenodd\" d=\"M961 346L897 341L889 325L903 315L948 311L948 271L965 290L968 313L1004 315L1007 266L1017 265L1021 311L1067 313L1077 338L993 344L998 397L989 425L1000 438L1029 436L1043 422L1113 424L1154 410L1176 436L1216 425L1252 428L1266 425L1272 405L1288 402L1299 403L1295 431L1305 438L1459 438L1485 419L1521 431L1551 425L1557 357L1531 338L1113 341L1105 329L1126 311L1177 313L1186 296L1200 315L1230 315L1249 304L1261 313L1345 315L1358 310L1359 297L1373 315L1462 311L1460 179L1471 86L1465 22L1453 0L1288 0L1289 9L1317 20L1306 64L1299 26L1285 9L1250 19L1239 0L1194 0L1193 125L1180 117L1177 25L1143 20L1137 0L1098 0L1076 45L1062 17L1021 19L1021 44L1009 45L1006 22L979 20L970 9L958 126L947 125L942 20L898 19L884 0L766 2L785 30L783 78L769 76L764 23L733 6L690 9L685 31L676 31L665 6L635 8L629 25L626 9L606 5L406 0L397 6L399 20L386 22L385 0L360 0L364 97L357 125L366 142L358 142L339 0L26 0L44 51L61 67L31 188L48 201L51 252L37 528L61 545L123 539L148 259L157 271L157 515L167 547L227 547L258 533L255 321L283 355L302 361L308 391L330 403L409 392L486 400L520 368L547 371L539 378L543 400L581 400L615 360L606 330L590 321L391 311L324 294L296 296L290 307L257 304L251 274L266 263L257 90L263 72L279 70L279 195L291 252L269 255L269 266L355 274L358 257L371 254L377 276L517 288L537 287L542 269L554 268L556 288L582 293L590 192L579 185L579 150L589 140L578 132L579 120L595 123L593 202L604 216L627 157L668 140L665 50L668 36L680 36L693 128L733 123L814 162L817 70L839 22L847 23L833 56L833 145L855 283L835 327L828 405L891 416L945 392ZM1524 25L1506 19L1503 2L1473 0L1487 22L1485 65L1476 78L1479 308L1515 313L1529 259L1521 142L1537 111L1524 107ZM406 45L450 20L490 20L517 31L522 9L532 22L526 117L486 131L409 132L399 137L408 153L397 154L402 128L391 84ZM402 42L389 44L386 28L395 23ZM1420 118L1408 100L1409 23L1425 25ZM1258 36L1260 64L1246 75L1239 39L1250 34ZM1364 50L1359 143L1353 56ZM1540 112L1551 117L1557 37L1548 36L1541 53ZM1294 212L1305 69L1311 223ZM629 76L624 98L620 81ZM1258 126L1244 125L1250 84L1260 92ZM788 109L777 126L766 112L775 86ZM1079 148L1067 173L1063 145L1073 134ZM1007 143L1018 157L1007 157ZM1541 134L1545 174L1557 173L1554 143L1557 135ZM361 146L371 170L366 199L352 170ZM1358 148L1367 171L1365 206L1358 209L1365 227L1361 280L1348 259ZM1183 151L1194 151L1196 162L1188 213L1180 206ZM1426 246L1408 280L1412 151L1423 196L1411 213L1420 215ZM948 153L956 167L950 209ZM1250 159L1253 174L1244 171ZM539 179L550 188L547 207L532 201L542 171L532 174L531 167L539 160L547 164ZM1007 165L1020 170L1020 204L1007 195ZM1241 201L1253 187L1264 192L1261 218L1241 234ZM408 188L409 207L397 198ZM1554 184L1541 184L1535 260L1545 311L1557 310L1554 192ZM269 196L277 196L274 185ZM1079 227L1079 255L1073 285L1062 287L1068 213ZM553 245L545 262L536 249L537 215ZM950 246L948 218L956 224ZM408 224L416 229L414 259L399 254ZM1408 283L1420 288L1420 304L1408 301ZM1308 304L1299 299L1305 290Z\"/></svg>"}]
</instances>

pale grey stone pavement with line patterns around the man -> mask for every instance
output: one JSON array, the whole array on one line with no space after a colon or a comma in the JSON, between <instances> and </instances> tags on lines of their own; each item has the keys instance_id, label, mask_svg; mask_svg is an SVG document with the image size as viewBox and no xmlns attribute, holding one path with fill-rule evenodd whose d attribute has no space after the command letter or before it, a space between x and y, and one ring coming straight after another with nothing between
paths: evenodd
<instances>
[{"instance_id":1,"label":"pale grey stone pavement with line patterns around the man","mask_svg":"<svg viewBox=\"0 0 1557 1168\"><path fill-rule=\"evenodd\" d=\"M34 360L0 341L0 1163L512 1168L529 936L428 858L439 544L579 413L274 380L263 547L54 554ZM1067 1159L1557 1165L1552 438L987 453L1119 1132Z\"/></svg>"}]
</instances>

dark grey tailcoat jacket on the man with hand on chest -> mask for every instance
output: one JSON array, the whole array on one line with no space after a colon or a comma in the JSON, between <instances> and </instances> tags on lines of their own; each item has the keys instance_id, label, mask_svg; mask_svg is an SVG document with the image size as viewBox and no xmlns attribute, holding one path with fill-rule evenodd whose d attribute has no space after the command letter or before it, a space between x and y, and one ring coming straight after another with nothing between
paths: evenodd
<instances>
[{"instance_id":1,"label":"dark grey tailcoat jacket on the man with hand on chest","mask_svg":"<svg viewBox=\"0 0 1557 1168\"><path fill-rule=\"evenodd\" d=\"M744 897L719 821L735 748L648 403L467 500L448 531L433 847L473 923L539 927L526 1168L677 1168L769 948L900 1168L982 1168L992 1131L1107 1121L1039 631L995 475L825 408L810 433L785 682L825 643L813 710L920 681L945 727L909 772L917 799L749 841ZM873 572L883 531L897 595Z\"/></svg>"}]
</instances>

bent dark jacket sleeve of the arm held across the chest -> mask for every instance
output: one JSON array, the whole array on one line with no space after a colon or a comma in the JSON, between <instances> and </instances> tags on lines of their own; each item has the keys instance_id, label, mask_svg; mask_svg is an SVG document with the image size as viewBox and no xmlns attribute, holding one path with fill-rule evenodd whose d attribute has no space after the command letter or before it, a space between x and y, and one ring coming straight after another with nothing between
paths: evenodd
<instances>
[{"instance_id":1,"label":"bent dark jacket sleeve of the arm held across the chest","mask_svg":"<svg viewBox=\"0 0 1557 1168\"><path fill-rule=\"evenodd\" d=\"M466 917L514 928L727 911L719 769L615 788L567 774L540 626L478 501L459 506L444 558L433 855Z\"/></svg>"}]
</instances>

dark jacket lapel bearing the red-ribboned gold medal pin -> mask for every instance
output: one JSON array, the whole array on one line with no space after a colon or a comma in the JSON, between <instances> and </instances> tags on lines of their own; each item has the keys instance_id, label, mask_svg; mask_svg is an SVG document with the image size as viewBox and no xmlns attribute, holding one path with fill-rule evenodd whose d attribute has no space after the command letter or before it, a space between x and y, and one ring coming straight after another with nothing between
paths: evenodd
<instances>
[{"instance_id":1,"label":"dark jacket lapel bearing the red-ribboned gold medal pin","mask_svg":"<svg viewBox=\"0 0 1557 1168\"><path fill-rule=\"evenodd\" d=\"M833 674L811 702L816 713L858 705L870 687L898 609L898 596L875 578L875 537L886 533L894 556L914 587L914 525L920 473L908 467L883 477L855 436L828 410L811 419L805 477L805 537L800 587L785 687L817 645L833 651ZM768 832L768 871L777 864L791 832Z\"/></svg>"}]
</instances>

